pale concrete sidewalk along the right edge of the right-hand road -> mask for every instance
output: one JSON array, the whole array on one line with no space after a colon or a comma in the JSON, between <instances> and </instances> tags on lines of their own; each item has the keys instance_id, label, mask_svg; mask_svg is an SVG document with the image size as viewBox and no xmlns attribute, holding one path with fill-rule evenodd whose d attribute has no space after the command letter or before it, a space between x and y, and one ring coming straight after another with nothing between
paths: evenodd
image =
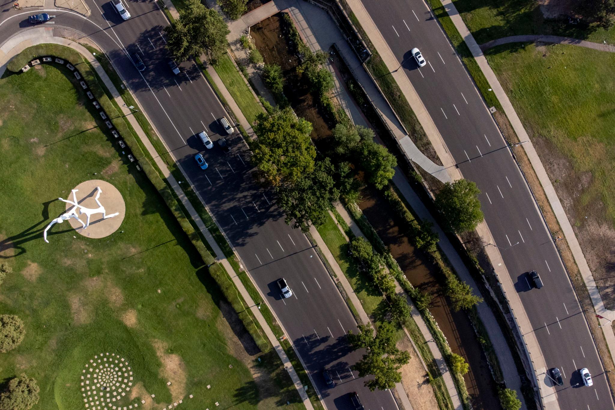
<instances>
[{"instance_id":1,"label":"pale concrete sidewalk along the right edge of the right-hand road","mask_svg":"<svg viewBox=\"0 0 615 410\"><path fill-rule=\"evenodd\" d=\"M467 29L466 24L463 22L458 10L453 5L453 2L451 0L442 0L442 5L451 17L451 20L453 20L459 34L461 34L464 41L466 41L466 44L477 61L478 66L480 66L483 74L485 74L487 81L491 85L496 97L498 97L498 100L502 104L502 109L504 109L504 112L506 113L510 124L512 124L515 133L517 133L519 140L530 141L530 143L523 144L522 147L525 149L534 171L536 171L536 175L542 185L542 189L544 189L544 192L547 195L547 199L549 200L551 208L553 209L557 221L560 224L561 230L566 238L566 242L568 242L568 246L573 253L574 261L581 271L585 286L587 286L587 291L589 291L589 295L592 298L595 312L606 318L600 319L600 325L602 326L601 329L612 356L613 352L615 352L615 334L613 333L613 327L609 322L615 320L615 311L605 308L600 296L600 291L598 291L598 287L593 279L592 271L587 265L587 261L585 260L585 256L581 250L581 245L579 245L579 241L574 234L573 227L568 220L568 216L566 216L564 208L561 205L560 199L557 197L557 193L555 192L555 188L551 183L549 175L547 175L547 171L544 169L541 159L538 157L538 153L536 152L536 149L534 149L534 145L531 143L530 136L528 136L528 133L525 131L522 121L517 116L517 112L512 106L512 103L510 103L510 100L506 95L506 92L504 92L502 85L498 81L498 77L496 77L495 73L493 73L493 70L486 60L485 55L475 41L474 36L472 36L470 31Z\"/></svg>"}]
</instances>

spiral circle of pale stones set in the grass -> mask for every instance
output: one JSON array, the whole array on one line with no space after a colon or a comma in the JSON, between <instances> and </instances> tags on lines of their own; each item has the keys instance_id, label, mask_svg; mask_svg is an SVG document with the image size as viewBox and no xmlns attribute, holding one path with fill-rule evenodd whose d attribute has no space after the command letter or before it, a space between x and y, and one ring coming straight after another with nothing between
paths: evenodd
<instances>
[{"instance_id":1,"label":"spiral circle of pale stones set in the grass","mask_svg":"<svg viewBox=\"0 0 615 410\"><path fill-rule=\"evenodd\" d=\"M81 375L81 393L85 408L97 410L127 410L138 403L120 405L132 387L133 375L128 361L115 353L95 355L85 365Z\"/></svg>"}]
</instances>

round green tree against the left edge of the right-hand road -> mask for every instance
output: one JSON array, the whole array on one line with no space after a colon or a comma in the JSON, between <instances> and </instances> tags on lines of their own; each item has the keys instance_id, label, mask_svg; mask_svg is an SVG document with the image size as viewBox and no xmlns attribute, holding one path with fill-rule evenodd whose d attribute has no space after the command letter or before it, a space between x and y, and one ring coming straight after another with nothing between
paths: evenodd
<instances>
[{"instance_id":1,"label":"round green tree against the left edge of the right-hand road","mask_svg":"<svg viewBox=\"0 0 615 410\"><path fill-rule=\"evenodd\" d=\"M435 195L435 206L446 219L451 231L461 234L474 231L483 220L476 184L467 179L446 183Z\"/></svg>"}]
</instances>

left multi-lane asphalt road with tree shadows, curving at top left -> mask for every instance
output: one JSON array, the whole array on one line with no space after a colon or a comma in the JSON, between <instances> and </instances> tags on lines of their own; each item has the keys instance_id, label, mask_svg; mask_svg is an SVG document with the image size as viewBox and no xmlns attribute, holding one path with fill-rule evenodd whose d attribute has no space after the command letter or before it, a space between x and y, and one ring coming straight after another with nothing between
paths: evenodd
<instances>
[{"instance_id":1,"label":"left multi-lane asphalt road with tree shadows, curving at top left","mask_svg":"<svg viewBox=\"0 0 615 410\"><path fill-rule=\"evenodd\" d=\"M110 2L87 0L92 9L89 18L53 10L54 24L45 26L85 34L109 56L236 248L327 408L350 409L349 393L358 392L366 409L397 409L391 392L370 392L352 371L351 366L361 357L361 352L352 352L347 343L347 331L357 331L354 317L308 239L284 223L272 192L253 180L250 152L242 138L227 138L231 146L228 154L217 146L205 149L197 138L201 130L207 130L213 140L220 138L223 130L216 119L228 114L194 63L182 63L184 71L178 76L171 73L164 49L163 28L168 24L164 14L152 1L126 3L132 17L125 22ZM31 28L29 14L34 10L2 12L0 43ZM127 57L133 52L140 53L145 62L142 76ZM197 152L204 154L207 170L197 167ZM291 286L291 298L281 298L276 285L280 277ZM325 368L335 380L333 388L323 382Z\"/></svg>"}]
</instances>

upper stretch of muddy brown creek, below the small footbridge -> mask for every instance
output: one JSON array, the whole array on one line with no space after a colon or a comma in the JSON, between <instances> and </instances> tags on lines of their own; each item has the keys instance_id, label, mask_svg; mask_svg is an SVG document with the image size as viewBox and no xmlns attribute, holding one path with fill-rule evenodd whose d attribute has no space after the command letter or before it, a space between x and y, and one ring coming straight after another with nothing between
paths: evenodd
<instances>
[{"instance_id":1,"label":"upper stretch of muddy brown creek, below the small footbridge","mask_svg":"<svg viewBox=\"0 0 615 410\"><path fill-rule=\"evenodd\" d=\"M277 64L284 72L284 95L296 114L312 123L312 140L316 143L331 135L330 125L323 120L322 112L317 108L308 87L296 73L300 61L295 56L295 47L288 44L284 33L282 13L263 20L250 28L250 35L265 64Z\"/></svg>"}]
</instances>

